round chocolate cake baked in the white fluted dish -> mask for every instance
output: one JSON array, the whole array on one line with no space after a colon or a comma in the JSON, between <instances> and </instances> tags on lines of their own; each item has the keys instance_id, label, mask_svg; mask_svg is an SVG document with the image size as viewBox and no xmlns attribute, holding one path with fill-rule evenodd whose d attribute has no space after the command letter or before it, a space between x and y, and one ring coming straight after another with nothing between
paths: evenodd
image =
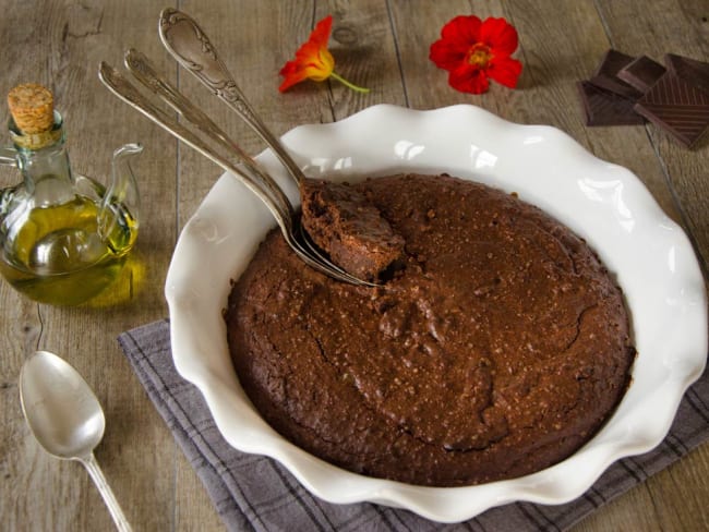
<instances>
[{"instance_id":1,"label":"round chocolate cake baked in the white fluted dish","mask_svg":"<svg viewBox=\"0 0 709 532\"><path fill-rule=\"evenodd\" d=\"M384 286L323 276L274 231L232 287L229 349L263 418L336 466L432 486L531 473L592 437L635 350L584 240L447 176L353 186L406 242Z\"/></svg>"}]
</instances>

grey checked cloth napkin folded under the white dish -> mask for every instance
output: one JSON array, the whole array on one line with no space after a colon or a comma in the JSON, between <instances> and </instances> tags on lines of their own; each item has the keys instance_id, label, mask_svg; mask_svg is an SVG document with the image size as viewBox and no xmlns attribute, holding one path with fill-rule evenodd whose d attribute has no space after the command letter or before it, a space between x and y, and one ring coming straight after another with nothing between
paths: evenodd
<instances>
[{"instance_id":1,"label":"grey checked cloth napkin folded under the white dish","mask_svg":"<svg viewBox=\"0 0 709 532\"><path fill-rule=\"evenodd\" d=\"M440 524L374 504L325 503L278 462L231 447L200 390L177 373L167 321L123 332L119 342L229 530L562 531L709 437L709 376L705 372L685 395L664 442L651 452L616 462L576 500L560 506L515 503L465 523Z\"/></svg>"}]
</instances>

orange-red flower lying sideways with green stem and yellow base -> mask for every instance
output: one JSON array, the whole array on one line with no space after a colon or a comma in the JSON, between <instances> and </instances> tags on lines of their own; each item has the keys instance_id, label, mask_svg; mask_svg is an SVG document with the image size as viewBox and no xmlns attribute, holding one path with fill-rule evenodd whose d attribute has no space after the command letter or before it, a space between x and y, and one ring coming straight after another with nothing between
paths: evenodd
<instances>
[{"instance_id":1,"label":"orange-red flower lying sideways with green stem and yellow base","mask_svg":"<svg viewBox=\"0 0 709 532\"><path fill-rule=\"evenodd\" d=\"M280 69L280 75L286 78L278 87L278 90L285 93L297 83L305 80L323 82L328 77L334 77L353 90L369 93L369 88L358 87L335 73L335 59L327 49L332 29L333 15L327 15L315 25L315 29L310 34L308 41L296 52L296 59L288 61Z\"/></svg>"}]
</instances>

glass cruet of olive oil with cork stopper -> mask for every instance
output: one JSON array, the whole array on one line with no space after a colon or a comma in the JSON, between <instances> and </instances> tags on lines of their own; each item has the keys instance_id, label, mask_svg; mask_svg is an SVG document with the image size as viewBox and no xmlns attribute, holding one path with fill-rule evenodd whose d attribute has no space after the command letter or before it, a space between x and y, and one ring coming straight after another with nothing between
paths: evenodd
<instances>
[{"instance_id":1,"label":"glass cruet of olive oil with cork stopper","mask_svg":"<svg viewBox=\"0 0 709 532\"><path fill-rule=\"evenodd\" d=\"M113 154L106 190L72 173L49 90L20 85L8 104L14 146L0 150L0 164L19 168L23 182L0 191L0 274L35 301L83 303L119 277L135 242L139 197L128 158L142 147Z\"/></svg>"}]
</instances>

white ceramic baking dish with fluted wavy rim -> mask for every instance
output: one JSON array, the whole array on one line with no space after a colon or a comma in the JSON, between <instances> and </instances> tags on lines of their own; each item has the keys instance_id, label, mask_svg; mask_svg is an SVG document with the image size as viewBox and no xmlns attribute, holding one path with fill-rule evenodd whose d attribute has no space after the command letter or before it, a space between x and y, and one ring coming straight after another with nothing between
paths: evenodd
<instances>
[{"instance_id":1,"label":"white ceramic baking dish with fluted wavy rim","mask_svg":"<svg viewBox=\"0 0 709 532\"><path fill-rule=\"evenodd\" d=\"M572 500L612 462L663 439L684 391L705 366L707 302L685 233L633 173L593 157L560 130L514 124L471 106L432 111L375 106L333 124L296 128L284 142L311 177L448 172L519 193L584 237L617 276L639 354L633 384L602 431L570 458L538 473L432 488L335 468L275 433L231 366L221 316L229 280L245 268L274 222L252 194L223 176L180 235L166 297L176 366L204 394L233 447L275 458L325 500L368 500L454 522L516 500ZM289 186L273 154L264 152L259 160ZM289 191L296 200L295 189Z\"/></svg>"}]
</instances>

